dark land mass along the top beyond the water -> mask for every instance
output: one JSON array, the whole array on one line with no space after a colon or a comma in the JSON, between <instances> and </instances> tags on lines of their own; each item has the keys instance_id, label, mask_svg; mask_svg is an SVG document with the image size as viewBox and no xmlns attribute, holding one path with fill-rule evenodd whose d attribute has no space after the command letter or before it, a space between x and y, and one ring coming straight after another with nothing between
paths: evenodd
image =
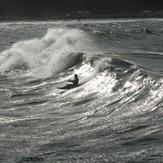
<instances>
[{"instance_id":1,"label":"dark land mass along the top beyond the water","mask_svg":"<svg viewBox=\"0 0 163 163\"><path fill-rule=\"evenodd\" d=\"M0 20L163 17L163 0L0 0Z\"/></svg>"}]
</instances>

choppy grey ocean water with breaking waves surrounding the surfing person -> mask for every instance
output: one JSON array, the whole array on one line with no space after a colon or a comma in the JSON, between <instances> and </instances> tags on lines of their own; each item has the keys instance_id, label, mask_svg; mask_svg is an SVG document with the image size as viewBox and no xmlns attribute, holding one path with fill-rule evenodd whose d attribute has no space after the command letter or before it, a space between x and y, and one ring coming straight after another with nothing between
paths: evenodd
<instances>
[{"instance_id":1,"label":"choppy grey ocean water with breaking waves surrounding the surfing person","mask_svg":"<svg viewBox=\"0 0 163 163\"><path fill-rule=\"evenodd\" d=\"M1 22L0 162L163 162L163 20Z\"/></svg>"}]
</instances>

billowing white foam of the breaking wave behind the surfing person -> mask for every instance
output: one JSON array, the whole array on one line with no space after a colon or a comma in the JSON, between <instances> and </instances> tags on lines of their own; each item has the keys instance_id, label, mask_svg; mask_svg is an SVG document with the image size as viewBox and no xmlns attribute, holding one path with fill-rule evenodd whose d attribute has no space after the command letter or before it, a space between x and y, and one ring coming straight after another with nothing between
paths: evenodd
<instances>
[{"instance_id":1,"label":"billowing white foam of the breaking wave behind the surfing person","mask_svg":"<svg viewBox=\"0 0 163 163\"><path fill-rule=\"evenodd\" d=\"M86 34L76 29L49 29L41 39L15 43L0 55L0 72L25 67L30 74L48 77L72 67L79 61Z\"/></svg>"}]
</instances>

